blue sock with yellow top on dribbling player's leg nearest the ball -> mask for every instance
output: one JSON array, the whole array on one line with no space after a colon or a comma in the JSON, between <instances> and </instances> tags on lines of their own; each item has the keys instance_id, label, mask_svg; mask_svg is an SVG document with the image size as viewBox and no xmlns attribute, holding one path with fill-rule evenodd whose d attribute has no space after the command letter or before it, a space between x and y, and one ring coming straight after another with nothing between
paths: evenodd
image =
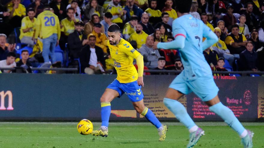
<instances>
[{"instance_id":1,"label":"blue sock with yellow top on dribbling player's leg nearest the ball","mask_svg":"<svg viewBox=\"0 0 264 148\"><path fill-rule=\"evenodd\" d=\"M111 114L110 102L101 102L101 119L102 119L101 126L108 127L110 114Z\"/></svg>"}]
</instances>

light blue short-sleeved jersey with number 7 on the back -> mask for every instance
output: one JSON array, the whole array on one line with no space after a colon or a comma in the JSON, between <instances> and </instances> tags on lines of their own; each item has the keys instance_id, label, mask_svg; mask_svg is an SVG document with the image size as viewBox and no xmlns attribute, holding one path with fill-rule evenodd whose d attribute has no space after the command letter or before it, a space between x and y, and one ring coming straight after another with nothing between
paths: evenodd
<instances>
[{"instance_id":1,"label":"light blue short-sleeved jersey with number 7 on the back","mask_svg":"<svg viewBox=\"0 0 264 148\"><path fill-rule=\"evenodd\" d=\"M202 37L207 36L211 29L190 14L175 19L172 27L174 38L186 38L184 48L179 49L184 65L184 77L193 80L196 76L212 75L211 68L202 54Z\"/></svg>"}]
</instances>

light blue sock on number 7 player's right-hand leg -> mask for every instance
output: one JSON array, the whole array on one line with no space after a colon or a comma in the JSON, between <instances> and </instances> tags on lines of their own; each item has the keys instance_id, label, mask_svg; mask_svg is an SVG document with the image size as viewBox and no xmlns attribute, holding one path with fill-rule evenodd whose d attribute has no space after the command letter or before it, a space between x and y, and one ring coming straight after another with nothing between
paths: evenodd
<instances>
[{"instance_id":1,"label":"light blue sock on number 7 player's right-hand leg","mask_svg":"<svg viewBox=\"0 0 264 148\"><path fill-rule=\"evenodd\" d=\"M234 129L239 135L241 135L245 128L235 117L234 113L226 106L224 106L221 102L209 107L211 112L214 112L218 116L220 116L225 123L228 124L232 129Z\"/></svg>"}]
</instances>

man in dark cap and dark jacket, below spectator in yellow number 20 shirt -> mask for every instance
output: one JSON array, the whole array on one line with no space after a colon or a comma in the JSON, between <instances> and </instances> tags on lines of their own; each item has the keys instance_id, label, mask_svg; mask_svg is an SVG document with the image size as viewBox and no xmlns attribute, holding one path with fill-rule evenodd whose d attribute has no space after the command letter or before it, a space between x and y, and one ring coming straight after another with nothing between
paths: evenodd
<instances>
[{"instance_id":1,"label":"man in dark cap and dark jacket, below spectator in yellow number 20 shirt","mask_svg":"<svg viewBox=\"0 0 264 148\"><path fill-rule=\"evenodd\" d=\"M87 36L83 33L84 23L82 21L74 23L75 30L68 36L68 49L70 51L70 58L79 58L80 51L83 46L88 44Z\"/></svg>"}]
</instances>

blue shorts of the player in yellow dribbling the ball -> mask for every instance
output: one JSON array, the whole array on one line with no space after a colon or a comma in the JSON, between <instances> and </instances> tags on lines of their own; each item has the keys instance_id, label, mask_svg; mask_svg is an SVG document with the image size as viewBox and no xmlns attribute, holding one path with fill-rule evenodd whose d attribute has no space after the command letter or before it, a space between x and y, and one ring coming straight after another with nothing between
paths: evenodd
<instances>
[{"instance_id":1,"label":"blue shorts of the player in yellow dribbling the ball","mask_svg":"<svg viewBox=\"0 0 264 148\"><path fill-rule=\"evenodd\" d=\"M138 102L144 98L141 86L137 84L137 81L120 83L115 79L107 88L116 90L119 93L118 97L121 97L124 93L127 94L132 102Z\"/></svg>"}]
</instances>

